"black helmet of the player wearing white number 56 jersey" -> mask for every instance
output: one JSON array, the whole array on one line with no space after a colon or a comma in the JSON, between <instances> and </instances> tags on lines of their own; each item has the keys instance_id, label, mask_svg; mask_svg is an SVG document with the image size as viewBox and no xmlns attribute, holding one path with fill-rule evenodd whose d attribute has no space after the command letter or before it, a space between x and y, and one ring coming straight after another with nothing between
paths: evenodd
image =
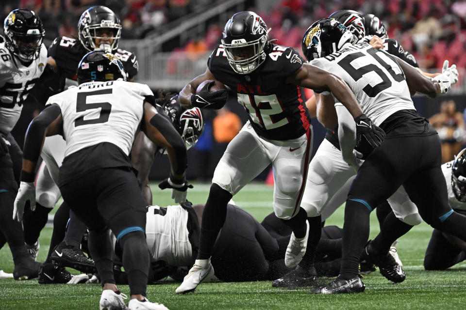
<instances>
[{"instance_id":1,"label":"black helmet of the player wearing white number 56 jersey","mask_svg":"<svg viewBox=\"0 0 466 310\"><path fill-rule=\"evenodd\" d=\"M39 57L45 30L42 21L33 11L17 9L6 16L3 23L5 45L22 61Z\"/></svg>"}]
</instances>

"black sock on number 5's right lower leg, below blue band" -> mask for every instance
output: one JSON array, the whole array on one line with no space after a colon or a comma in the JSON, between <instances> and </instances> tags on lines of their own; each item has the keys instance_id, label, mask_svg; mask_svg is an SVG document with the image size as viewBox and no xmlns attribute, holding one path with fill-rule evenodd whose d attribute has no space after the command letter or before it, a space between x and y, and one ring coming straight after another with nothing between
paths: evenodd
<instances>
[{"instance_id":1,"label":"black sock on number 5's right lower leg, below blue band","mask_svg":"<svg viewBox=\"0 0 466 310\"><path fill-rule=\"evenodd\" d=\"M127 233L119 243L123 248L122 263L128 277L130 294L146 296L150 257L145 234L141 231Z\"/></svg>"}]
</instances>

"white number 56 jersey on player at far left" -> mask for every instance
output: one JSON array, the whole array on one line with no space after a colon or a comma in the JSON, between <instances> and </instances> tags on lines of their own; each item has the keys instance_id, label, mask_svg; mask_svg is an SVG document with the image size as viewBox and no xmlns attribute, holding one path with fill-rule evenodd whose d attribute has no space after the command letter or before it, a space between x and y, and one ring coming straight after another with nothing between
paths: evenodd
<instances>
[{"instance_id":1,"label":"white number 56 jersey on player at far left","mask_svg":"<svg viewBox=\"0 0 466 310\"><path fill-rule=\"evenodd\" d=\"M44 44L39 57L29 66L14 58L5 43L0 43L0 132L7 134L21 115L23 102L44 72L47 64L47 48Z\"/></svg>"}]
</instances>

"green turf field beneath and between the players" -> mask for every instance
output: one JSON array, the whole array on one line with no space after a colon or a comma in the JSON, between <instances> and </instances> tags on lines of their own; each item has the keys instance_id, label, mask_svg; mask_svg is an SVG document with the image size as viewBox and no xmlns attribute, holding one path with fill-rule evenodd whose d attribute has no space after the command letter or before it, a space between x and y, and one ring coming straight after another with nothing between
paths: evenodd
<instances>
[{"instance_id":1,"label":"green turf field beneath and between the players","mask_svg":"<svg viewBox=\"0 0 466 310\"><path fill-rule=\"evenodd\" d=\"M169 191L160 191L153 184L154 203L172 203ZM156 190L157 189L157 190ZM204 203L209 186L195 184L188 194L194 203ZM233 199L261 221L272 211L272 188L259 184L246 186ZM328 224L340 225L343 209ZM371 217L371 237L378 233L375 214ZM166 281L148 287L151 301L164 303L170 310L216 309L465 309L466 264L458 264L443 272L424 271L424 251L432 229L421 224L399 240L399 256L404 263L406 280L391 284L378 271L363 278L367 288L362 294L311 295L308 289L283 290L271 287L269 281L202 284L196 294L177 295L177 283ZM47 255L51 228L40 237L38 260ZM13 272L8 247L0 250L0 269ZM129 294L127 286L120 290ZM37 280L0 279L0 309L99 309L100 284L39 285Z\"/></svg>"}]
</instances>

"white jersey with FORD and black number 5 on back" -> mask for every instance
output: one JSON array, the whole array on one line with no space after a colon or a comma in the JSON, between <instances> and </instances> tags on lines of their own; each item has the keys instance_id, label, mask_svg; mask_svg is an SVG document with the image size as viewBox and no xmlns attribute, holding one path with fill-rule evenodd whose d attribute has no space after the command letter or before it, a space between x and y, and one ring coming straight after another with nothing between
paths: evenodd
<instances>
[{"instance_id":1,"label":"white jersey with FORD and black number 5 on back","mask_svg":"<svg viewBox=\"0 0 466 310\"><path fill-rule=\"evenodd\" d=\"M148 95L153 93L145 84L116 80L83 83L51 96L47 104L62 110L65 157L102 142L129 155Z\"/></svg>"}]
</instances>

